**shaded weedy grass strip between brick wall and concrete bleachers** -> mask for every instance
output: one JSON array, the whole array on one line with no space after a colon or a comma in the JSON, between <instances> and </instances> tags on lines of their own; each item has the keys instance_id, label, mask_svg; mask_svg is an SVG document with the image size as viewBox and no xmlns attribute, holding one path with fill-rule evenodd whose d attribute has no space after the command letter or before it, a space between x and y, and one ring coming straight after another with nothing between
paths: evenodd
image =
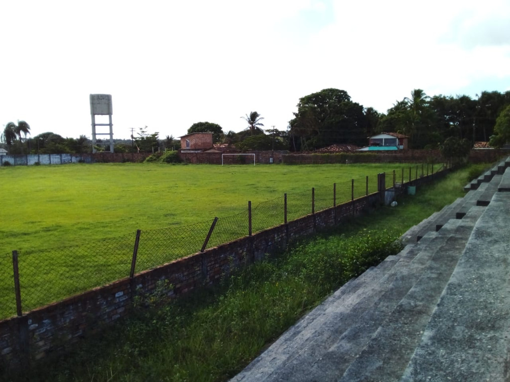
<instances>
[{"instance_id":1,"label":"shaded weedy grass strip between brick wall and concrete bleachers","mask_svg":"<svg viewBox=\"0 0 510 382\"><path fill-rule=\"evenodd\" d=\"M476 172L483 170L478 167ZM469 175L468 175L469 174ZM286 253L243 269L221 286L134 315L84 340L69 357L24 375L54 381L222 381L240 371L305 312L396 251L393 241L463 196L473 169L448 175ZM385 227L385 229L381 229ZM19 376L20 377L20 376Z\"/></svg>"}]
</instances>

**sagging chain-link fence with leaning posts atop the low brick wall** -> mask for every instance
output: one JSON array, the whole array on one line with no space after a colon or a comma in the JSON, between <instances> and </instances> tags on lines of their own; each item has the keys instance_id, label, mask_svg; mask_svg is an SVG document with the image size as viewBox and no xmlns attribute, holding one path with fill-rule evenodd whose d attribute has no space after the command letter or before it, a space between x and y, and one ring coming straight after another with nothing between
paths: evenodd
<instances>
[{"instance_id":1,"label":"sagging chain-link fence with leaning posts atop the low brick wall","mask_svg":"<svg viewBox=\"0 0 510 382\"><path fill-rule=\"evenodd\" d=\"M424 166L386 174L386 187L443 170L438 165ZM14 253L0 256L0 319L376 191L377 174L360 176L284 194L256 206L248 202L241 213L189 226L143 230L67 248L14 251L17 261Z\"/></svg>"}]
</instances>

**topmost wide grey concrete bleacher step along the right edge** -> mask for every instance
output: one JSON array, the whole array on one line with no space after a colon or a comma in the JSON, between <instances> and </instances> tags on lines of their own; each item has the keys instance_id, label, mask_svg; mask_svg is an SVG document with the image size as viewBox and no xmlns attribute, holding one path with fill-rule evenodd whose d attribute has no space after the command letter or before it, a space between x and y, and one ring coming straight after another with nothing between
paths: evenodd
<instances>
[{"instance_id":1,"label":"topmost wide grey concrete bleacher step along the right edge","mask_svg":"<svg viewBox=\"0 0 510 382\"><path fill-rule=\"evenodd\" d=\"M510 194L477 221L401 381L510 379Z\"/></svg>"}]
</instances>

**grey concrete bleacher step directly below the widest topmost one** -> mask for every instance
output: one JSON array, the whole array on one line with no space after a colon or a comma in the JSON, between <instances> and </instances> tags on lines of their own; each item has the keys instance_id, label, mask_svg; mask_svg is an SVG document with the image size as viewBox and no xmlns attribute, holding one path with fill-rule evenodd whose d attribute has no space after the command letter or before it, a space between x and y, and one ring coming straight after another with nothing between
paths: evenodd
<instances>
[{"instance_id":1,"label":"grey concrete bleacher step directly below the widest topmost one","mask_svg":"<svg viewBox=\"0 0 510 382\"><path fill-rule=\"evenodd\" d=\"M483 209L471 211L478 219ZM398 380L461 257L473 229L469 219L450 221L447 240L435 251L419 280L389 314L339 381Z\"/></svg>"}]
</instances>

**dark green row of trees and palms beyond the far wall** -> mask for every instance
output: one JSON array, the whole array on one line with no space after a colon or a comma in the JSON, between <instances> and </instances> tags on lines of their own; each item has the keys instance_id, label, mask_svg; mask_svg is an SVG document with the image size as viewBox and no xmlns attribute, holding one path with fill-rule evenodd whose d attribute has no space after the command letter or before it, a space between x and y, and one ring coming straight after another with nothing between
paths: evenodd
<instances>
[{"instance_id":1,"label":"dark green row of trees and palms beyond the far wall","mask_svg":"<svg viewBox=\"0 0 510 382\"><path fill-rule=\"evenodd\" d=\"M215 144L238 150L311 151L333 144L366 146L368 137L380 132L397 132L409 137L413 149L438 149L445 142L473 146L490 142L501 147L510 141L510 91L483 91L473 99L467 95L429 97L422 89L414 89L410 97L396 101L386 114L373 107L365 108L352 101L339 89L323 89L299 99L297 112L285 130L274 126L264 129L258 112L241 117L247 127L240 132L223 131L212 122L197 122L188 133L212 132ZM2 142L9 153L87 153L91 141L63 138L46 132L27 138L30 126L25 121L9 122ZM109 151L109 141L97 141L97 151ZM161 152L180 148L171 135L160 139L159 132L140 128L130 140L115 140L116 152Z\"/></svg>"}]
</instances>

